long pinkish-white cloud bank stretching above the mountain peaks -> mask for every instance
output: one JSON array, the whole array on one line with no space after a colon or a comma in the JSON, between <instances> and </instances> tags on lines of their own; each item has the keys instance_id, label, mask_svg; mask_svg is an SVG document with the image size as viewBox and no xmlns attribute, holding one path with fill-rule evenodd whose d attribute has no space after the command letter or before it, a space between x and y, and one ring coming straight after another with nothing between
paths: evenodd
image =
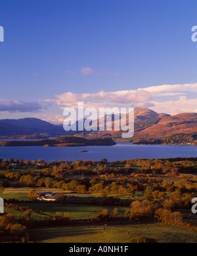
<instances>
[{"instance_id":1,"label":"long pinkish-white cloud bank stretching above the mountain peaks","mask_svg":"<svg viewBox=\"0 0 197 256\"><path fill-rule=\"evenodd\" d=\"M67 107L77 108L78 102L84 102L85 108L131 107L150 108L158 113L196 112L197 84L164 84L138 88L137 90L119 90L115 92L74 94L65 92L52 100L44 100L57 105L62 110Z\"/></svg>"}]
</instances>

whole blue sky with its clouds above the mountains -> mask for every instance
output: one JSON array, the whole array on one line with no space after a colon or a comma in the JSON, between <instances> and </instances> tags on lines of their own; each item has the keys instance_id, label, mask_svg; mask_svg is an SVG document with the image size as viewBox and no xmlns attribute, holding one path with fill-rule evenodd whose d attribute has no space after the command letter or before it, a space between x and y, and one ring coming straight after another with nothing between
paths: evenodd
<instances>
[{"instance_id":1,"label":"whole blue sky with its clouds above the mountains","mask_svg":"<svg viewBox=\"0 0 197 256\"><path fill-rule=\"evenodd\" d=\"M196 0L0 1L0 119L61 123L76 100L197 112Z\"/></svg>"}]
</instances>

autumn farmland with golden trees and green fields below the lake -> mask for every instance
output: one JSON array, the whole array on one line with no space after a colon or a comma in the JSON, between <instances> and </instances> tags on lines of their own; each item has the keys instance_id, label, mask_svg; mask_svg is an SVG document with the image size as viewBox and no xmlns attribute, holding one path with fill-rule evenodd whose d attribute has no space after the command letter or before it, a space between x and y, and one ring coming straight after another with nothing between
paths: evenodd
<instances>
[{"instance_id":1,"label":"autumn farmland with golden trees and green fields below the lake","mask_svg":"<svg viewBox=\"0 0 197 256\"><path fill-rule=\"evenodd\" d=\"M5 214L0 225L11 223L2 226L0 240L125 243L146 236L164 243L194 243L197 221L191 200L197 197L196 173L196 158L1 160ZM51 193L55 201L39 201L40 193ZM28 236L24 231L11 236L14 223Z\"/></svg>"}]
</instances>

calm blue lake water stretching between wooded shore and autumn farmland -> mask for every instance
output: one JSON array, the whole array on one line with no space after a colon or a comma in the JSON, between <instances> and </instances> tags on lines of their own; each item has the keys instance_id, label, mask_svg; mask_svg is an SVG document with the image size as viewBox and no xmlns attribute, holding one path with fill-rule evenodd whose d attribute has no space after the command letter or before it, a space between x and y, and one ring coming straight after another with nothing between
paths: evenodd
<instances>
[{"instance_id":1,"label":"calm blue lake water stretching between wooded shore and autumn farmland","mask_svg":"<svg viewBox=\"0 0 197 256\"><path fill-rule=\"evenodd\" d=\"M79 153L80 150L89 152ZM44 146L9 146L0 147L0 158L23 158L24 160L92 160L102 158L108 161L129 160L134 158L176 158L197 157L197 146L165 146L134 145L118 143L115 146L76 146L76 147L44 147Z\"/></svg>"}]
</instances>

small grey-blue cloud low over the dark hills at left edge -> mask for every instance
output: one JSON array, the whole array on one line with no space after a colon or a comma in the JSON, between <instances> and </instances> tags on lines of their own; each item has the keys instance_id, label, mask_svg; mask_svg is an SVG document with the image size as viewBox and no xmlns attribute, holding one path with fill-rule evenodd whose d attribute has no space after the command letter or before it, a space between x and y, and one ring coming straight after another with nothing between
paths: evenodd
<instances>
[{"instance_id":1,"label":"small grey-blue cloud low over the dark hills at left edge","mask_svg":"<svg viewBox=\"0 0 197 256\"><path fill-rule=\"evenodd\" d=\"M35 102L18 102L17 100L0 99L0 112L39 112L40 104Z\"/></svg>"}]
</instances>

